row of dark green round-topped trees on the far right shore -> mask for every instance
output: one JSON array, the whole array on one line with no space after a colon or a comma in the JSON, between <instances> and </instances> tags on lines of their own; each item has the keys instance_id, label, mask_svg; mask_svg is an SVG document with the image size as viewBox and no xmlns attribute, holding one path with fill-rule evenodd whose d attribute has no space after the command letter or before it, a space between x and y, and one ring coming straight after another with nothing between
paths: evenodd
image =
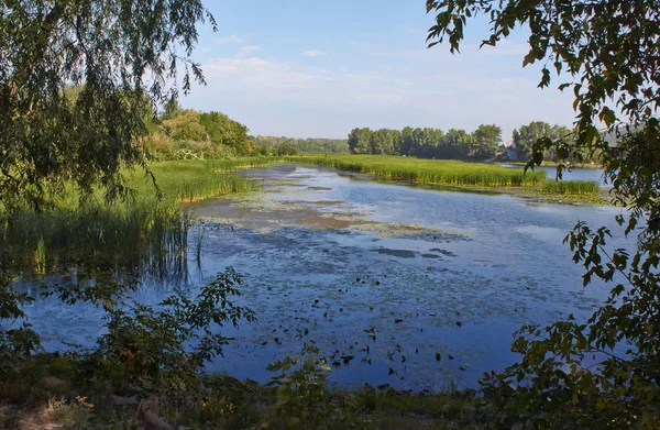
<instances>
[{"instance_id":1,"label":"row of dark green round-topped trees on the far right shore","mask_svg":"<svg viewBox=\"0 0 660 430\"><path fill-rule=\"evenodd\" d=\"M475 159L496 156L524 159L529 156L532 144L540 137L571 139L571 130L534 121L514 130L510 145L503 145L502 129L495 124L482 124L472 133L465 130L413 129L403 130L369 128L353 129L349 133L349 150L353 154L387 154L420 158ZM547 159L554 154L547 154Z\"/></svg>"}]
</instances>

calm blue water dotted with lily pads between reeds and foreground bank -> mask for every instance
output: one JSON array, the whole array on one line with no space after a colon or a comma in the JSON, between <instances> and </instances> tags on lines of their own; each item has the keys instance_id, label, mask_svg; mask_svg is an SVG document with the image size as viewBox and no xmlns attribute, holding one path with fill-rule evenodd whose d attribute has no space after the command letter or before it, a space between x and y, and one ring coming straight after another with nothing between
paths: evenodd
<instances>
[{"instance_id":1,"label":"calm blue water dotted with lily pads between reeds and foreground bank","mask_svg":"<svg viewBox=\"0 0 660 430\"><path fill-rule=\"evenodd\" d=\"M205 238L190 294L233 266L245 278L240 301L258 318L224 331L235 340L210 370L265 382L268 363L314 342L340 385L475 387L483 372L516 359L509 344L521 324L584 319L606 294L582 288L562 240L579 220L614 227L614 208L425 190L294 165L243 175L264 192L197 206L202 221L190 233L191 242ZM169 291L146 283L136 299L155 304ZM29 313L48 349L91 345L101 331L99 311L84 305L41 299Z\"/></svg>"}]
</instances>

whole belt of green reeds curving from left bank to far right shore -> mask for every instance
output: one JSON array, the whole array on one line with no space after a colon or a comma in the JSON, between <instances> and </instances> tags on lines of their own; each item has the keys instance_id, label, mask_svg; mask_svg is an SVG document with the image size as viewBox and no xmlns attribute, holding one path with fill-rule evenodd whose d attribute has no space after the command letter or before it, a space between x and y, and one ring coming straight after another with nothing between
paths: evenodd
<instances>
[{"instance_id":1,"label":"whole belt of green reeds curving from left bank to far right shore","mask_svg":"<svg viewBox=\"0 0 660 430\"><path fill-rule=\"evenodd\" d=\"M187 252L187 231L193 220L182 205L257 190L258 184L231 173L273 163L327 166L440 190L508 194L565 205L608 205L607 191L598 190L591 181L556 183L546 179L544 172L525 174L521 169L457 161L385 155L179 161L150 166L157 188L143 172L125 172L127 186L134 190L128 200L107 205L100 189L90 199L80 200L79 192L69 189L65 196L54 198L53 207L45 212L28 208L13 212L6 217L0 236L12 265L22 266L25 273L50 273L56 265L75 260L76 253L92 256L101 265L142 261L152 266L142 269L164 272L167 255ZM103 252L99 252L101 249Z\"/></svg>"}]
</instances>

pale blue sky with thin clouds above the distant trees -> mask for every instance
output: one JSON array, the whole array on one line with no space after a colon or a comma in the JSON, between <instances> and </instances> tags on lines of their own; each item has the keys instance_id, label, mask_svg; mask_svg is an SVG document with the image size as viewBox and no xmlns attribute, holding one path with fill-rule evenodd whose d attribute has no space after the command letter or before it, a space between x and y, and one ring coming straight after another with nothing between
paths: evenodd
<instances>
[{"instance_id":1,"label":"pale blue sky with thin clouds above the distant trees","mask_svg":"<svg viewBox=\"0 0 660 430\"><path fill-rule=\"evenodd\" d=\"M473 131L573 122L559 81L538 89L542 64L522 68L524 30L484 46L488 22L469 21L461 54L428 49L425 0L207 0L194 58L207 86L182 106L221 111L254 135L340 137L359 126Z\"/></svg>"}]
</instances>

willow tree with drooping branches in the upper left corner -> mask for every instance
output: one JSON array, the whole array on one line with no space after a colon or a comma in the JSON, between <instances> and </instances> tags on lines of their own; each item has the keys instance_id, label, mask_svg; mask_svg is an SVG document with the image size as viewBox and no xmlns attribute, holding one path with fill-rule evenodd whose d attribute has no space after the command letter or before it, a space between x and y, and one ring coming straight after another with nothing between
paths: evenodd
<instances>
[{"instance_id":1,"label":"willow tree with drooping branches in the upper left corner","mask_svg":"<svg viewBox=\"0 0 660 430\"><path fill-rule=\"evenodd\" d=\"M191 54L205 20L216 27L201 0L2 2L2 203L41 207L66 183L125 195L120 168L146 169L144 98L158 107L178 96L168 82L204 82Z\"/></svg>"}]
</instances>

